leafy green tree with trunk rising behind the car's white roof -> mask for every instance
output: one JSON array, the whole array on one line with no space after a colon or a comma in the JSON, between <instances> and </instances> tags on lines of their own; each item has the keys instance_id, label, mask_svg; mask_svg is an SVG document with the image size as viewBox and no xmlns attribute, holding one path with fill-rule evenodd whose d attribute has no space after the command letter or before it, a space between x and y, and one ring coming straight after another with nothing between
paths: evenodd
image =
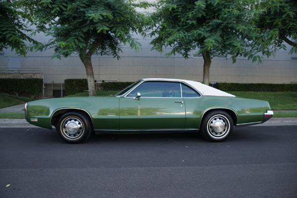
<instances>
[{"instance_id":1,"label":"leafy green tree with trunk rising behind the car's white roof","mask_svg":"<svg viewBox=\"0 0 297 198\"><path fill-rule=\"evenodd\" d=\"M148 26L148 35L153 37L152 49L165 55L180 53L189 57L191 50L197 50L204 59L203 83L208 85L211 59L217 55L231 55L261 61L257 54L271 55L271 41L259 32L251 19L257 17L253 0L159 0L152 13L153 23ZM251 42L253 41L253 42Z\"/></svg>"}]
</instances>

